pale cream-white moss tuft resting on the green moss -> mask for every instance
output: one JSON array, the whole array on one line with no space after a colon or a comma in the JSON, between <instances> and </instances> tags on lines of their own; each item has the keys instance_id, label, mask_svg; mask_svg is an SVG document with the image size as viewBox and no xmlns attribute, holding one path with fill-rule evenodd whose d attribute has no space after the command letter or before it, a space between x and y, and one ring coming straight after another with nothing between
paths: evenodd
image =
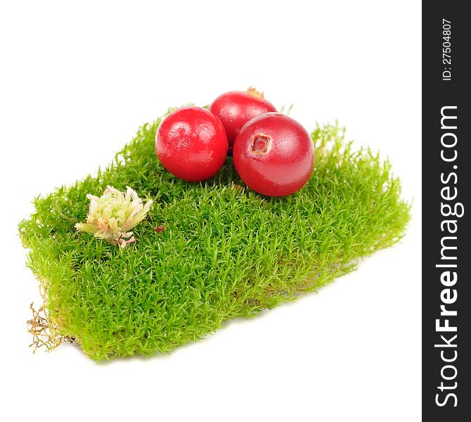
<instances>
[{"instance_id":1,"label":"pale cream-white moss tuft resting on the green moss","mask_svg":"<svg viewBox=\"0 0 471 422\"><path fill-rule=\"evenodd\" d=\"M136 240L129 230L146 218L153 205L152 200L143 204L129 186L126 192L107 186L99 198L90 193L86 197L90 200L89 214L86 222L75 224L75 228L121 248Z\"/></svg>"}]
</instances>

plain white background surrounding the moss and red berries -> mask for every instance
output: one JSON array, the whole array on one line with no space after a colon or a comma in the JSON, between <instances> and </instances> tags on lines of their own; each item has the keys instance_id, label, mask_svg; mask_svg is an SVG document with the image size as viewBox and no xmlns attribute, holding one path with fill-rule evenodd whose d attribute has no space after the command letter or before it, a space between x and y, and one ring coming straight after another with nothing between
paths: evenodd
<instances>
[{"instance_id":1,"label":"plain white background surrounding the moss and red berries","mask_svg":"<svg viewBox=\"0 0 471 422\"><path fill-rule=\"evenodd\" d=\"M0 6L0 419L420 420L420 1L11 1ZM105 165L168 106L255 85L389 156L404 240L318 294L164 357L32 354L31 200Z\"/></svg>"}]
</instances>

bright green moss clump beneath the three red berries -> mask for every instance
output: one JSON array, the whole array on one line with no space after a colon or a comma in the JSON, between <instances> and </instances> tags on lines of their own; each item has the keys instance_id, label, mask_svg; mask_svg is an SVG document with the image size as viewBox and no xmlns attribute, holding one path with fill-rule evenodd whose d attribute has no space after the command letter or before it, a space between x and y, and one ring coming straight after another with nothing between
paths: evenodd
<instances>
[{"instance_id":1,"label":"bright green moss clump beneath the three red berries","mask_svg":"<svg viewBox=\"0 0 471 422\"><path fill-rule=\"evenodd\" d=\"M312 133L308 184L266 198L240 181L231 158L209 181L173 177L155 156L160 121L95 177L35 198L35 214L20 223L44 293L46 316L30 321L37 345L72 340L97 361L169 352L330 283L404 234L410 206L389 162L354 151L337 125ZM155 203L124 250L74 228L86 194L107 185Z\"/></svg>"}]
</instances>

